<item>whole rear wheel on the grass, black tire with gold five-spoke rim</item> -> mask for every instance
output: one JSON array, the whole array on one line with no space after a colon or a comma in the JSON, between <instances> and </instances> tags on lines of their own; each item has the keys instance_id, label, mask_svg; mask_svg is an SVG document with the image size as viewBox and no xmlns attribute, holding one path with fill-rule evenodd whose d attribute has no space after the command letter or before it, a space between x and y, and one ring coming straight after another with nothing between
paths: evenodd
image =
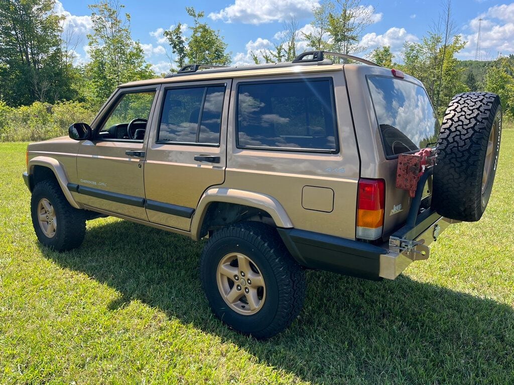
<instances>
[{"instance_id":1,"label":"whole rear wheel on the grass, black tire with gold five-spoke rim","mask_svg":"<svg viewBox=\"0 0 514 385\"><path fill-rule=\"evenodd\" d=\"M305 298L305 274L277 230L241 222L216 232L200 260L214 314L234 330L269 338L287 328Z\"/></svg>"}]
</instances>

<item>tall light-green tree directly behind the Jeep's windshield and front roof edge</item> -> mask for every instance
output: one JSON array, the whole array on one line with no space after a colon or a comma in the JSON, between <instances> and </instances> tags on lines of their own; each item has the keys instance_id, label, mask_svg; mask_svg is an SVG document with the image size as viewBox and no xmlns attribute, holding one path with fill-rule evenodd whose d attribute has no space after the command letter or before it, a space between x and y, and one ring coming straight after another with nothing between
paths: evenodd
<instances>
[{"instance_id":1,"label":"tall light-green tree directly behind the Jeep's windshield and front roof edge","mask_svg":"<svg viewBox=\"0 0 514 385\"><path fill-rule=\"evenodd\" d=\"M155 77L139 42L132 40L130 14L118 0L90 5L93 33L87 36L91 61L86 65L89 98L99 104L126 82Z\"/></svg>"}]
</instances>

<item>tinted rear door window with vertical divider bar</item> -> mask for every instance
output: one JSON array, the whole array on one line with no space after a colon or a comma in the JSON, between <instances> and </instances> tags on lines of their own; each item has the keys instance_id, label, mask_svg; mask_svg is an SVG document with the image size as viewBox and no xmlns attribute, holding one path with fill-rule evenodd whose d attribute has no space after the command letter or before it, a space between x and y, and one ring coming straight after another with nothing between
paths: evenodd
<instances>
[{"instance_id":1,"label":"tinted rear door window with vertical divider bar","mask_svg":"<svg viewBox=\"0 0 514 385\"><path fill-rule=\"evenodd\" d=\"M225 86L166 91L158 142L219 144Z\"/></svg>"}]
</instances>

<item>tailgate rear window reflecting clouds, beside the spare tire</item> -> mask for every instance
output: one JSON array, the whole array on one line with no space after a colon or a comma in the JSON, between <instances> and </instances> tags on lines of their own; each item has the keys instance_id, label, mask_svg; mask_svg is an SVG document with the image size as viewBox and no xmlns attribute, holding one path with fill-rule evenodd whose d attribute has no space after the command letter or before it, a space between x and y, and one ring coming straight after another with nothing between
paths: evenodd
<instances>
[{"instance_id":1,"label":"tailgate rear window reflecting clouds, beside the spare tire","mask_svg":"<svg viewBox=\"0 0 514 385\"><path fill-rule=\"evenodd\" d=\"M368 78L387 156L424 148L437 141L439 122L423 87L406 80Z\"/></svg>"}]
</instances>

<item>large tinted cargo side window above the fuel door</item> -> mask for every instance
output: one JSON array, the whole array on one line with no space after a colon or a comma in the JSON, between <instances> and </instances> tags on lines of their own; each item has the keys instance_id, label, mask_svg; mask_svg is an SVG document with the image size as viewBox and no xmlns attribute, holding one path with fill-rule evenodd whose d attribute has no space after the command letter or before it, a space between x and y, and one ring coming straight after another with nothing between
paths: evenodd
<instances>
[{"instance_id":1,"label":"large tinted cargo side window above the fuel door","mask_svg":"<svg viewBox=\"0 0 514 385\"><path fill-rule=\"evenodd\" d=\"M337 152L330 79L243 83L237 88L240 148Z\"/></svg>"}]
</instances>

